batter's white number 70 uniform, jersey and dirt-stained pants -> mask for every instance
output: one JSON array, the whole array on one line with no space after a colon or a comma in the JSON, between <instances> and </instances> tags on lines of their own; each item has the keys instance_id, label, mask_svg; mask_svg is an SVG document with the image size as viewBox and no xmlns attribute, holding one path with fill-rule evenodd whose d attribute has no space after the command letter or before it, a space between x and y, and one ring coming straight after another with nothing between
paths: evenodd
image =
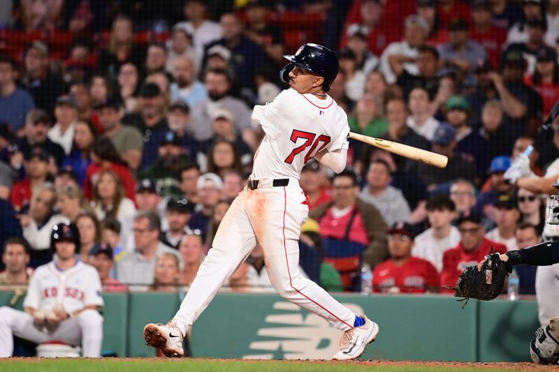
<instances>
[{"instance_id":1,"label":"batter's white number 70 uniform, jersey and dirt-stained pants","mask_svg":"<svg viewBox=\"0 0 559 372\"><path fill-rule=\"evenodd\" d=\"M272 103L255 106L252 119L266 133L254 155L251 175L259 180L258 188L246 187L231 204L173 320L186 334L259 241L268 277L279 295L338 329L351 329L355 314L303 278L298 269L300 226L309 210L298 182L300 171L323 149L331 152L349 147L347 116L330 96L321 100L287 89ZM289 183L274 187L274 179L289 179Z\"/></svg>"}]
</instances>

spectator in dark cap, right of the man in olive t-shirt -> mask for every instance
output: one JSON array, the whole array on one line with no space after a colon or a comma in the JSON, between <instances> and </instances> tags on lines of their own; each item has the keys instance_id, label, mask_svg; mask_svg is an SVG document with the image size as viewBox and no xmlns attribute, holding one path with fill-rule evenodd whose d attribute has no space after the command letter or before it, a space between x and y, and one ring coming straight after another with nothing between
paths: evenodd
<instances>
[{"instance_id":1,"label":"spectator in dark cap, right of the man in olive t-shirt","mask_svg":"<svg viewBox=\"0 0 559 372\"><path fill-rule=\"evenodd\" d=\"M165 137L169 126L165 117L166 98L159 85L145 82L140 88L140 110L126 114L122 123L140 131L144 142L140 169L150 165L157 157L159 142Z\"/></svg>"}]
</instances>

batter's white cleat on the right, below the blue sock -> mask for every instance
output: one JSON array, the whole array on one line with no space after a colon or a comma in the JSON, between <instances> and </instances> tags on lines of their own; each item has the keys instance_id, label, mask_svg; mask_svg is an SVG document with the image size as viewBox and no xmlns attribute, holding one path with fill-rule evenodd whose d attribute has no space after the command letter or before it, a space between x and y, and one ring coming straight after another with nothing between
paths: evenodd
<instances>
[{"instance_id":1,"label":"batter's white cleat on the right, below the blue sock","mask_svg":"<svg viewBox=\"0 0 559 372\"><path fill-rule=\"evenodd\" d=\"M379 334L379 326L377 323L369 320L365 315L361 315L365 320L365 324L347 330L342 334L340 339L340 351L334 355L336 360L349 360L361 357L365 352L365 346L372 343Z\"/></svg>"}]
</instances>

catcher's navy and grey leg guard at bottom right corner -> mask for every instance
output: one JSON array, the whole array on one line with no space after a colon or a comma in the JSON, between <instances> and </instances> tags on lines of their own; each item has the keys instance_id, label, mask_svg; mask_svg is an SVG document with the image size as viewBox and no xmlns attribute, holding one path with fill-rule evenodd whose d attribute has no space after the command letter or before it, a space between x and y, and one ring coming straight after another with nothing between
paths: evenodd
<instances>
[{"instance_id":1,"label":"catcher's navy and grey leg guard at bottom right corner","mask_svg":"<svg viewBox=\"0 0 559 372\"><path fill-rule=\"evenodd\" d=\"M536 338L530 342L530 357L536 364L559 362L559 316L551 318L546 327L537 329Z\"/></svg>"}]
</instances>

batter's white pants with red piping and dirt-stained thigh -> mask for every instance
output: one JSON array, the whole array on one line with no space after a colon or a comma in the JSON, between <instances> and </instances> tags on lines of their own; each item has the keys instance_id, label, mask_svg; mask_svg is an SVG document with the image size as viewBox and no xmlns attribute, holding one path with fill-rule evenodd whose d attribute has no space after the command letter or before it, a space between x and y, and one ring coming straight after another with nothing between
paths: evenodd
<instances>
[{"instance_id":1,"label":"batter's white pants with red piping and dirt-stained thigh","mask_svg":"<svg viewBox=\"0 0 559 372\"><path fill-rule=\"evenodd\" d=\"M284 299L320 315L338 329L353 328L355 314L299 272L300 226L308 207L296 179L288 186L245 188L231 204L198 274L173 320L183 334L210 304L224 281L247 258L256 239L262 246L272 285ZM266 187L267 186L267 187Z\"/></svg>"}]
</instances>

